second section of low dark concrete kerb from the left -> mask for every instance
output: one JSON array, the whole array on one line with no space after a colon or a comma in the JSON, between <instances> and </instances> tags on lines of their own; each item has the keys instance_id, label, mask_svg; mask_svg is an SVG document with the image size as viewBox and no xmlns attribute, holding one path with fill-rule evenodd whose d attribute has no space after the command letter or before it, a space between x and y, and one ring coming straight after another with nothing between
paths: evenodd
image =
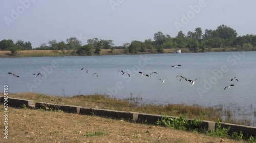
<instances>
[{"instance_id":1,"label":"second section of low dark concrete kerb from the left","mask_svg":"<svg viewBox=\"0 0 256 143\"><path fill-rule=\"evenodd\" d=\"M46 107L54 109L54 106L56 106L56 104L54 105L52 103L46 103L46 102L36 102L35 103L36 109L40 109L40 108L45 109ZM57 105L57 108L62 110L63 112L79 113L80 108L82 108L82 106Z\"/></svg>"}]
</instances>

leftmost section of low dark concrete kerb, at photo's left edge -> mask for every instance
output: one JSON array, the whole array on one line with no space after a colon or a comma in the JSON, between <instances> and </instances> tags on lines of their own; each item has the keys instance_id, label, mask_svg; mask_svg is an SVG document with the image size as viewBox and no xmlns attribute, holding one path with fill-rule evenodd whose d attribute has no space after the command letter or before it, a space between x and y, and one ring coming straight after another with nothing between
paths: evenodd
<instances>
[{"instance_id":1,"label":"leftmost section of low dark concrete kerb, at photo's left edge","mask_svg":"<svg viewBox=\"0 0 256 143\"><path fill-rule=\"evenodd\" d=\"M16 108L23 108L24 105L26 107L33 108L32 104L34 103L33 100L11 98L11 97L8 97L7 101L8 101L7 102L8 106L16 107ZM1 102L1 104L4 104L4 97L0 97L0 102Z\"/></svg>"}]
</instances>

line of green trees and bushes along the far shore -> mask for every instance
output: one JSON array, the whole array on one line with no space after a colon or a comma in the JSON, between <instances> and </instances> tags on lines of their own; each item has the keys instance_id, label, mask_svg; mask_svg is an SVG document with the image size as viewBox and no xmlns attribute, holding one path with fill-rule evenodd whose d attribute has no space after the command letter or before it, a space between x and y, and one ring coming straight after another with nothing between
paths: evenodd
<instances>
[{"instance_id":1,"label":"line of green trees and bushes along the far shore","mask_svg":"<svg viewBox=\"0 0 256 143\"><path fill-rule=\"evenodd\" d=\"M145 39L144 41L133 40L131 43L123 43L121 46L115 46L113 40L103 40L98 38L88 39L86 45L82 45L76 37L70 37L64 41L57 42L49 40L48 43L42 43L39 47L32 48L31 43L17 40L0 41L1 50L10 50L14 54L17 50L76 50L80 55L100 54L101 49L124 49L125 53L151 52L155 49L157 52L163 52L164 48L188 48L192 52L211 51L212 48L237 47L238 50L251 51L256 50L256 35L238 36L236 30L227 26L220 25L216 30L206 29L204 33L201 27L195 28L194 32L189 31L186 35L182 31L178 32L176 37L164 35L162 32L154 34L154 40Z\"/></svg>"}]
</instances>

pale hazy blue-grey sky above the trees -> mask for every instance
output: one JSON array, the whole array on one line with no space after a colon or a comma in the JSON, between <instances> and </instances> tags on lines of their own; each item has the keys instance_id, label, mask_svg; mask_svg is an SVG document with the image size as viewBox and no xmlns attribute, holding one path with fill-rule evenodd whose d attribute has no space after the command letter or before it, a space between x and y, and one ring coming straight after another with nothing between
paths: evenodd
<instances>
[{"instance_id":1,"label":"pale hazy blue-grey sky above the trees","mask_svg":"<svg viewBox=\"0 0 256 143\"><path fill-rule=\"evenodd\" d=\"M176 37L196 27L216 30L225 24L238 36L256 35L256 1L221 0L20 0L0 1L0 41L30 41L39 47L49 40L77 37L113 40L154 40L154 34Z\"/></svg>"}]
</instances>

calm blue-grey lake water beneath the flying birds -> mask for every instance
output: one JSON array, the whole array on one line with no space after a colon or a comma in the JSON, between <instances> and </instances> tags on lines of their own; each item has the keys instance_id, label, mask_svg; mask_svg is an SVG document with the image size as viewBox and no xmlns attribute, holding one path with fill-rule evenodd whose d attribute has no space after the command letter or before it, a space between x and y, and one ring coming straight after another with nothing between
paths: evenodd
<instances>
[{"instance_id":1,"label":"calm blue-grey lake water beneath the flying birds","mask_svg":"<svg viewBox=\"0 0 256 143\"><path fill-rule=\"evenodd\" d=\"M172 68L173 65L181 65ZM256 111L256 52L101 55L36 58L1 58L0 92L36 92L73 96L106 94L116 98L142 98L143 103L186 103L240 111L252 119ZM81 68L87 68L88 73ZM121 75L118 70L129 72ZM142 76L142 71L152 77ZM19 75L15 77L8 72ZM42 73L41 78L33 73ZM98 77L93 75L98 73ZM176 78L197 80L194 85ZM230 81L236 76L239 80ZM165 79L161 82L159 79ZM234 84L224 90L227 85Z\"/></svg>"}]
</instances>

